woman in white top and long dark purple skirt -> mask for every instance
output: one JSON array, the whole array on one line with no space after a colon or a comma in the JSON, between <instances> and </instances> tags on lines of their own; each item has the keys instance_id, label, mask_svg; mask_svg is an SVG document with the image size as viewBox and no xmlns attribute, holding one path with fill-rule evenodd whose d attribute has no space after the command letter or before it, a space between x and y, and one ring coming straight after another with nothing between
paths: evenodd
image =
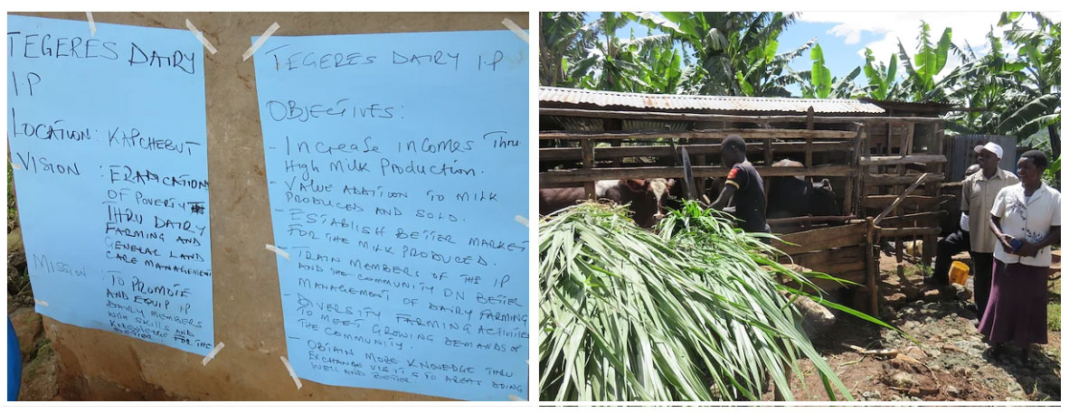
<instances>
[{"instance_id":1,"label":"woman in white top and long dark purple skirt","mask_svg":"<svg viewBox=\"0 0 1079 413\"><path fill-rule=\"evenodd\" d=\"M1020 183L1005 187L993 204L989 229L999 243L993 251L993 286L979 326L991 354L1011 342L1029 358L1029 344L1048 342L1050 246L1061 239L1061 193L1041 181L1049 160L1041 151L1020 156Z\"/></svg>"}]
</instances>

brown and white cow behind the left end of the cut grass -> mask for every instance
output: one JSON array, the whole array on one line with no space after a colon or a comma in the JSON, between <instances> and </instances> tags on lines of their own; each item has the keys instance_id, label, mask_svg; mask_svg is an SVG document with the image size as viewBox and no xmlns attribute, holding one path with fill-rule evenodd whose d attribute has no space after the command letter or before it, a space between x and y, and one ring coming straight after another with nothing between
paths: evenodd
<instances>
[{"instance_id":1,"label":"brown and white cow behind the left end of the cut grass","mask_svg":"<svg viewBox=\"0 0 1079 413\"><path fill-rule=\"evenodd\" d=\"M673 179L622 179L596 182L596 196L616 204L629 204L633 222L652 228L664 218L664 202L670 196ZM548 188L540 190L540 214L549 215L586 199L585 189Z\"/></svg>"}]
</instances>

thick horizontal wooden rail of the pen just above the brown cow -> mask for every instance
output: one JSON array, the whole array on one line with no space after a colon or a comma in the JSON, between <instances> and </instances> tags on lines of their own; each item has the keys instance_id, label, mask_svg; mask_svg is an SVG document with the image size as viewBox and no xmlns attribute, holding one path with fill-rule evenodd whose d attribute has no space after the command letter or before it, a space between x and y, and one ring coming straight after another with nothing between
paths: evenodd
<instances>
[{"instance_id":1,"label":"thick horizontal wooden rail of the pen just above the brown cow","mask_svg":"<svg viewBox=\"0 0 1079 413\"><path fill-rule=\"evenodd\" d=\"M723 166L694 166L695 177L725 177L730 168ZM762 177L844 177L855 173L855 168L846 165L815 166L811 168L761 166L756 168ZM555 169L540 173L540 187L552 188L557 183L588 182L604 179L629 178L680 178L683 171L678 166L641 166L620 168L593 169Z\"/></svg>"}]
</instances>

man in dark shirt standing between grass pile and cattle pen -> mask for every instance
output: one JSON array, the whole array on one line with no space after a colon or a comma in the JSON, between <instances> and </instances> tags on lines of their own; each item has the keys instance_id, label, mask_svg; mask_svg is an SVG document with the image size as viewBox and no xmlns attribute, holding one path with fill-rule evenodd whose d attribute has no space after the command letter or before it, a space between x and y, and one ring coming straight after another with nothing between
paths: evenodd
<instances>
[{"instance_id":1,"label":"man in dark shirt standing between grass pile and cattle pen","mask_svg":"<svg viewBox=\"0 0 1079 413\"><path fill-rule=\"evenodd\" d=\"M764 180L746 160L746 141L738 135L728 135L720 144L720 155L730 171L720 197L708 207L726 207L733 197L739 228L747 232L771 232L764 215Z\"/></svg>"}]
</instances>

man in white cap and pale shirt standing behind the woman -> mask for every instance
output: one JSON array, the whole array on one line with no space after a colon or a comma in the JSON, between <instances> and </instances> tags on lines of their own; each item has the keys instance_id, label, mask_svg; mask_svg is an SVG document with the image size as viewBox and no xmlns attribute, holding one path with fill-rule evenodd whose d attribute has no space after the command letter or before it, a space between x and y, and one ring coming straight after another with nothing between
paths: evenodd
<instances>
[{"instance_id":1,"label":"man in white cap and pale shirt standing behind the woman","mask_svg":"<svg viewBox=\"0 0 1079 413\"><path fill-rule=\"evenodd\" d=\"M993 285L993 247L997 238L989 230L989 210L997 193L1008 185L1019 183L1015 174L1000 169L998 164L1003 156L1003 148L987 142L974 147L978 154L979 170L962 181L962 201L959 209L970 217L970 259L974 262L974 306L978 319L985 312L989 300L989 286Z\"/></svg>"}]
</instances>

